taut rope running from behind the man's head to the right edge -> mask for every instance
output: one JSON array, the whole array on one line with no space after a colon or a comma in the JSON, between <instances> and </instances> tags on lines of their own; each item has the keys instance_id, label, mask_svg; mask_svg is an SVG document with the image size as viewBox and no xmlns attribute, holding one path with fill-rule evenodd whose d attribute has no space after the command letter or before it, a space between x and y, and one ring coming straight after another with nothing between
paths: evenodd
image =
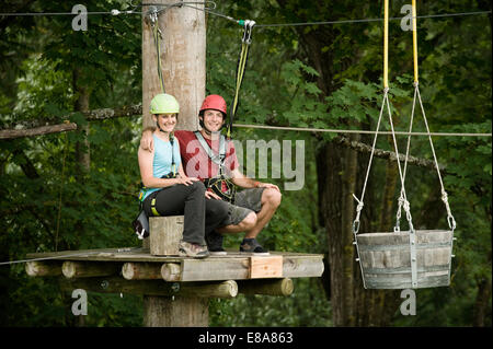
<instances>
[{"instance_id":1,"label":"taut rope running from behind the man's head to the right edge","mask_svg":"<svg viewBox=\"0 0 493 349\"><path fill-rule=\"evenodd\" d=\"M257 129L271 129L271 130L284 130L284 131L309 131L309 132L333 132L333 133L367 133L375 135L376 131L370 130L341 130L330 128L303 128L303 127L286 127L286 126L265 126L265 125L246 125L246 124L233 124L234 127L243 128L257 128ZM391 131L379 131L379 135L392 135ZM428 136L427 132L404 132L395 131L399 136ZM468 132L431 132L431 136L438 137L492 137L492 133L468 133Z\"/></svg>"}]
</instances>

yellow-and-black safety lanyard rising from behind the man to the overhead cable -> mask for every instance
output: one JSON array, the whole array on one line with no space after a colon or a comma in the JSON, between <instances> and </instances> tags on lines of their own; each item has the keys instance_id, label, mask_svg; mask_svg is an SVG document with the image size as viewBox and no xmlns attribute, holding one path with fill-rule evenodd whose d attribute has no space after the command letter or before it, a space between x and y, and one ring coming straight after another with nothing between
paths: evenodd
<instances>
[{"instance_id":1,"label":"yellow-and-black safety lanyard rising from behind the man to the overhead cable","mask_svg":"<svg viewBox=\"0 0 493 349\"><path fill-rule=\"evenodd\" d=\"M244 69L246 67L246 61L249 59L250 44L252 44L252 32L253 26L255 25L255 21L238 21L238 24L243 25L243 37L241 38L241 50L240 56L238 58L237 65L237 79L236 79L236 89L234 89L234 97L231 102L231 106L229 108L229 120L228 127L226 131L226 136L228 139L231 139L231 130L232 124L234 120L234 115L237 114L239 96L240 96L240 88L243 82Z\"/></svg>"}]
</instances>

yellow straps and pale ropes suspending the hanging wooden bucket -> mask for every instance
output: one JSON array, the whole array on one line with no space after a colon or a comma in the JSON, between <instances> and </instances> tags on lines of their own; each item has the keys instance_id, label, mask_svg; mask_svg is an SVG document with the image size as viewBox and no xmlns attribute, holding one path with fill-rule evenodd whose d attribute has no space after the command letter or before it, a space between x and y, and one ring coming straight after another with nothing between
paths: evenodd
<instances>
[{"instance_id":1,"label":"yellow straps and pale ropes suspending the hanging wooden bucket","mask_svg":"<svg viewBox=\"0 0 493 349\"><path fill-rule=\"evenodd\" d=\"M388 109L388 115L389 115L389 121L390 121L390 127L391 127L391 135L392 135L392 139L393 139L393 146L394 146L394 150L395 150L395 155L397 155L397 163L398 163L398 168L399 168L399 176L400 176L400 182L401 182L401 191L400 191L400 197L398 199L398 210L397 210L397 221L395 221L395 226L393 230L394 234L399 234L400 233L400 218L401 218L401 211L402 209L404 209L405 212L405 218L408 220L409 223L409 252L410 252L410 270L411 270L411 287L412 288L417 288L420 287L419 284L419 271L422 272L424 269L424 266L417 266L419 263L419 258L417 258L417 248L424 248L424 246L420 246L419 245L419 241L416 237L416 231L413 226L412 223L412 216L411 216L411 208L410 208L410 202L408 200L406 197L406 191L405 191L405 187L404 187L404 183L405 183L405 173L406 173L406 167L408 167L408 159L409 159L409 150L410 150L410 143L411 143L411 133L412 133L412 126L413 126L413 119L414 119L414 109L415 109L415 104L416 104L416 96L417 100L420 102L421 105L421 110L423 114L423 119L426 126L426 132L428 136L428 140L429 140L429 144L432 148L432 153L433 153L433 158L434 158L434 162L435 162L435 167L436 171L438 173L438 178L439 178L439 183L442 186L442 200L445 203L446 210L447 210L447 221L448 221L448 225L450 229L450 240L449 242L445 242L445 246L447 248L449 248L449 258L448 258L448 279L447 279L447 283L445 284L443 281L439 282L435 282L434 283L426 283L426 286L424 287L433 287L429 284L434 284L434 286L448 286L449 283L449 279L450 279L450 258L451 258L451 248L452 248L452 240L454 240L454 230L456 229L456 221L451 214L450 211L450 207L448 203L448 196L447 193L445 191L444 188L444 184L442 181L442 175L440 175L440 171L439 171L439 166L438 166L438 161L436 159L436 153L435 153L435 149L433 147L433 141L432 141L432 137L431 137L431 132L429 132L429 127L426 120L426 115L424 112L424 107L423 107L423 103L421 100L421 94L420 94L420 90L419 90L419 73L417 73L417 34L416 34L416 12L415 12L415 0L412 0L412 8L413 8L413 59L414 59L414 101L413 101L413 106L412 106L412 113L411 113L411 119L410 119L410 129L409 129L409 133L408 133L408 143L406 143L406 152L405 152L405 161L404 161L404 168L401 168L401 163L400 163L400 155L399 155L399 151L398 151L398 144L397 144L397 140L395 140L395 131L393 128L393 121L392 121L392 116L391 116L391 112L390 112L390 104L389 104L389 85L388 85L388 0L385 0L385 26L383 26L383 100L382 100L382 105L380 108L380 114L378 117L378 121L377 121L377 130L374 137L374 142L372 142L372 147L371 147L371 154L370 154L370 159L368 162L368 168L366 172L366 177L365 177L365 182L364 182L364 186L363 186L363 193L362 193L362 197L358 199L354 194L353 197L356 199L357 201L357 206L356 206L356 218L353 222L353 234L354 234L354 245L356 246L356 252L357 252L357 256L358 258L356 259L357 261L359 261L359 267L362 270L362 276L363 276L363 284L366 288L398 288L397 286L385 286L385 287L378 287L375 284L371 284L370 287L368 287L367 284L367 280L366 278L368 278L368 275L371 275L371 272L374 275L376 275L376 272L381 272L378 271L377 269L371 269L370 271L364 270L364 266L363 266L363 260L362 260L362 253L360 253L360 246L358 244L358 230L359 230L359 217L360 217L360 212L362 209L364 207L364 197L365 197L365 191L366 191L366 186L367 186L367 182L368 182L368 176L369 176L369 172L370 172L370 167L371 167L371 162L372 162L372 158L374 158L374 152L375 152L375 146L376 146L376 141L377 141L377 137L378 137L378 132L379 132L379 128L380 128L380 123L381 123L381 118L382 118L382 114L383 114L383 107L387 106ZM376 236L376 234L365 234L365 235L374 235ZM375 248L375 246L371 246L372 248ZM442 266L440 266L442 267ZM368 267L367 267L368 268ZM371 268L371 267L370 267ZM419 270L420 269L420 270ZM377 271L375 271L377 270ZM395 274L395 271L392 271ZM402 272L402 271L401 271ZM424 280L424 278L422 277L420 280ZM372 281L374 282L374 281ZM424 281L426 282L426 281ZM423 287L423 286L422 286Z\"/></svg>"}]
</instances>

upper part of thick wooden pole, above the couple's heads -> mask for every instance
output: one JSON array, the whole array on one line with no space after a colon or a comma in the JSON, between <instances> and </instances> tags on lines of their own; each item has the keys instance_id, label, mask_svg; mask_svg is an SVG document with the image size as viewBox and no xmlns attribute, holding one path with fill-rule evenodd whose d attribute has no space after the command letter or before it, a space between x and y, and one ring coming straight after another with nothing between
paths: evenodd
<instances>
[{"instance_id":1,"label":"upper part of thick wooden pole, above the couple's heads","mask_svg":"<svg viewBox=\"0 0 493 349\"><path fill-rule=\"evenodd\" d=\"M170 4L175 0L153 3ZM204 7L196 4L195 7ZM144 7L146 13L151 7ZM159 9L159 7L158 7ZM187 7L168 8L158 19L162 33L161 66L164 92L180 103L176 129L198 129L198 109L205 97L206 31L204 11ZM142 120L144 127L154 126L149 114L152 97L161 93L158 78L157 50L151 27L142 21Z\"/></svg>"}]
</instances>

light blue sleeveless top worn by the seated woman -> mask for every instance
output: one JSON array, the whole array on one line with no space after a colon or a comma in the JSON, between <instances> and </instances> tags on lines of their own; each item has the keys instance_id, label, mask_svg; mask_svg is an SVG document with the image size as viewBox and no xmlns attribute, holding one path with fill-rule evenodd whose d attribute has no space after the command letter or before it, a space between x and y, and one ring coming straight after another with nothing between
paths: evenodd
<instances>
[{"instance_id":1,"label":"light blue sleeveless top worn by the seated woman","mask_svg":"<svg viewBox=\"0 0 493 349\"><path fill-rule=\"evenodd\" d=\"M163 141L156 135L152 135L153 141L154 141L154 159L152 160L152 176L156 178L161 178L163 175L169 174L172 163L171 158L171 142L170 141ZM177 168L180 164L182 163L182 158L180 156L180 144L176 137L173 141L173 153L174 153L174 163L176 165L175 172L177 173ZM142 201L151 194L157 190L160 190L162 188L146 188Z\"/></svg>"}]
</instances>

